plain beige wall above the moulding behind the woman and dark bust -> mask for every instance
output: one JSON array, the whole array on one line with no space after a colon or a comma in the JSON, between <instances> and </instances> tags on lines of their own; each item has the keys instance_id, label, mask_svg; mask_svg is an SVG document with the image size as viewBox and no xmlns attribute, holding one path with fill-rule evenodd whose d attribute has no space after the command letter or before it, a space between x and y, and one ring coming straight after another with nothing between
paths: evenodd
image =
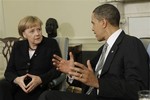
<instances>
[{"instance_id":1,"label":"plain beige wall above the moulding behind the woman and dark bust","mask_svg":"<svg viewBox=\"0 0 150 100\"><path fill-rule=\"evenodd\" d=\"M6 33L17 36L17 24L27 15L38 16L44 23L54 17L59 23L59 35L70 38L93 37L91 12L97 0L3 0ZM43 28L45 34L45 29Z\"/></svg>"}]
</instances>

